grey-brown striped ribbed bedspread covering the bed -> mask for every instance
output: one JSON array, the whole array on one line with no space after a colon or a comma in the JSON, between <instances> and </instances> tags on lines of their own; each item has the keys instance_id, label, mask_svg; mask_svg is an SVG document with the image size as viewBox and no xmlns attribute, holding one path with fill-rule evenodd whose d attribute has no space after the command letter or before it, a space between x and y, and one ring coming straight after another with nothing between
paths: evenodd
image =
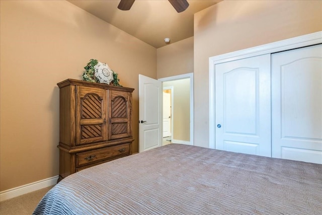
<instances>
[{"instance_id":1,"label":"grey-brown striped ribbed bedspread covering the bed","mask_svg":"<svg viewBox=\"0 0 322 215\"><path fill-rule=\"evenodd\" d=\"M322 214L322 165L170 144L66 177L33 214Z\"/></svg>"}]
</instances>

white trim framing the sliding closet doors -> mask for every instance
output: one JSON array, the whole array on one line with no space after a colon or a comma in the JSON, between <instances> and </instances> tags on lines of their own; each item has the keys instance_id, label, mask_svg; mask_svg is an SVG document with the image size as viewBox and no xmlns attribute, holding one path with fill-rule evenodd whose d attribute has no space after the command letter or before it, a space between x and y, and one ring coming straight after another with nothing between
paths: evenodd
<instances>
[{"instance_id":1,"label":"white trim framing the sliding closet doors","mask_svg":"<svg viewBox=\"0 0 322 215\"><path fill-rule=\"evenodd\" d=\"M209 148L215 149L215 64L322 43L322 31L209 57Z\"/></svg>"}]
</instances>

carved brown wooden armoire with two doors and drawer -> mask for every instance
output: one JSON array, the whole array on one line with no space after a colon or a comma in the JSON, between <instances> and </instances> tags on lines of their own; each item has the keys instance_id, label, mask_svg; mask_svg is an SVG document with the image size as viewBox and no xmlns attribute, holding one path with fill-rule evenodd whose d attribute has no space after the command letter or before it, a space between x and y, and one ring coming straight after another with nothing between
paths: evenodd
<instances>
[{"instance_id":1,"label":"carved brown wooden armoire with two doors and drawer","mask_svg":"<svg viewBox=\"0 0 322 215\"><path fill-rule=\"evenodd\" d=\"M59 82L59 178L132 154L134 89Z\"/></svg>"}]
</instances>

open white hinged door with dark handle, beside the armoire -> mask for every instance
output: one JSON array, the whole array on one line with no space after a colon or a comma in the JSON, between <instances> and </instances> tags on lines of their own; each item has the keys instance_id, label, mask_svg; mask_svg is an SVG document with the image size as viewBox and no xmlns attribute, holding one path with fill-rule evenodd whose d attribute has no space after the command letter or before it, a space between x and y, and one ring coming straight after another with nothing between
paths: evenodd
<instances>
[{"instance_id":1,"label":"open white hinged door with dark handle, beside the armoire","mask_svg":"<svg viewBox=\"0 0 322 215\"><path fill-rule=\"evenodd\" d=\"M139 75L139 152L162 146L162 83Z\"/></svg>"}]
</instances>

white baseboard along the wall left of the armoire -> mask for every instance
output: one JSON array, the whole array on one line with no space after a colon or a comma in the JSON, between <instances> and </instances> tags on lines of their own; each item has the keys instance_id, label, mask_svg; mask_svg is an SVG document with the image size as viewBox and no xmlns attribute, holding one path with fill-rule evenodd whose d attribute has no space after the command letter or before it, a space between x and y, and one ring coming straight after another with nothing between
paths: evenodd
<instances>
[{"instance_id":1,"label":"white baseboard along the wall left of the armoire","mask_svg":"<svg viewBox=\"0 0 322 215\"><path fill-rule=\"evenodd\" d=\"M49 186L53 186L57 183L57 179L58 179L58 175L51 177L51 178L47 178L47 179L43 179L40 181L36 181L30 184L26 184L20 187L15 187L9 190L5 190L5 191L1 191L0 192L0 201L4 201L10 198L14 198L26 193L30 193L42 188L46 188Z\"/></svg>"}]
</instances>

